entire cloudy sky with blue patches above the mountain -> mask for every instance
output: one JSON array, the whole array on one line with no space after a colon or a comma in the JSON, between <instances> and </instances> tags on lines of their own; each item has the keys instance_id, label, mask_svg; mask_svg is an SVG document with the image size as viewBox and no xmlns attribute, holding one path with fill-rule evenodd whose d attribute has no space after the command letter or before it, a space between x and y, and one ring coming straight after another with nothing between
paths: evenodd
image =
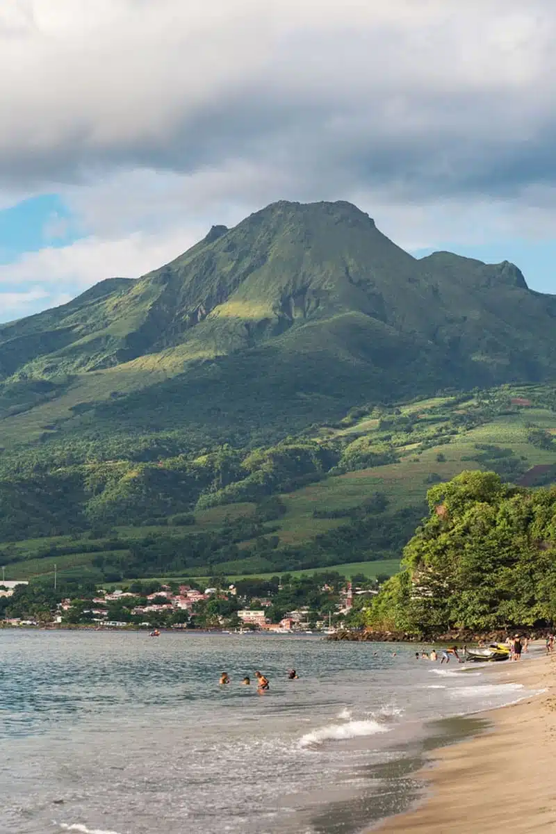
<instances>
[{"instance_id":1,"label":"entire cloudy sky with blue patches above the mountain","mask_svg":"<svg viewBox=\"0 0 556 834\"><path fill-rule=\"evenodd\" d=\"M556 294L553 0L2 0L0 321L278 199Z\"/></svg>"}]
</instances>

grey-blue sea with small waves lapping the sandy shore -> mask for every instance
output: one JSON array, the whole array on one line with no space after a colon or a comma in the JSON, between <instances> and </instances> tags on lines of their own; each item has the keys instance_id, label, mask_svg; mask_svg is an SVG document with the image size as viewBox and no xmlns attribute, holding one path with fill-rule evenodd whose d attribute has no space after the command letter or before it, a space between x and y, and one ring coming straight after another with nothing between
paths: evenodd
<instances>
[{"instance_id":1,"label":"grey-blue sea with small waves lapping the sandy shore","mask_svg":"<svg viewBox=\"0 0 556 834\"><path fill-rule=\"evenodd\" d=\"M418 798L431 747L527 694L489 666L417 660L423 648L0 630L0 832L368 831ZM241 685L255 671L263 695Z\"/></svg>"}]
</instances>

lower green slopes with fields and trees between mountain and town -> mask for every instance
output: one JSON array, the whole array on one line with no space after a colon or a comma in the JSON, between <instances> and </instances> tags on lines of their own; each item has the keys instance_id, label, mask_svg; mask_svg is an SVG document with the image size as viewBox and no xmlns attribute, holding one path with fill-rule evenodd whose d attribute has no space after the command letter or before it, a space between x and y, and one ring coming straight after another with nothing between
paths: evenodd
<instances>
[{"instance_id":1,"label":"lower green slopes with fields and trees between mountain and town","mask_svg":"<svg viewBox=\"0 0 556 834\"><path fill-rule=\"evenodd\" d=\"M358 407L257 450L74 465L20 456L0 481L3 564L8 578L56 564L114 582L399 560L435 482L470 468L556 480L555 409L552 389L506 386Z\"/></svg>"}]
</instances>

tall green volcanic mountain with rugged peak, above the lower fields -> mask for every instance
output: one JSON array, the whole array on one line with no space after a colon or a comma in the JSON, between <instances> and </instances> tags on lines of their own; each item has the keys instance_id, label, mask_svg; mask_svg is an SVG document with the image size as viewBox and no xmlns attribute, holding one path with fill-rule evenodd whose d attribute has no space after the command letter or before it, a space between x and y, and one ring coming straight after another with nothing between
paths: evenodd
<instances>
[{"instance_id":1,"label":"tall green volcanic mountain with rugged peak, above the lower fields","mask_svg":"<svg viewBox=\"0 0 556 834\"><path fill-rule=\"evenodd\" d=\"M273 203L0 326L0 442L248 445L358 403L545 381L555 318L513 264L415 259L350 203Z\"/></svg>"}]
</instances>

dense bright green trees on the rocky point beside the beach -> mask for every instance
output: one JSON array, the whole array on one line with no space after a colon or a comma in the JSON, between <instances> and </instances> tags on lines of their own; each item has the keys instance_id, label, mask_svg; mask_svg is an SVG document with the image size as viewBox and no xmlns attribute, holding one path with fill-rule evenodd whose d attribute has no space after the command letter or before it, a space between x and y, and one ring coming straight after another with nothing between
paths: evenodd
<instances>
[{"instance_id":1,"label":"dense bright green trees on the rocky point beside the beach","mask_svg":"<svg viewBox=\"0 0 556 834\"><path fill-rule=\"evenodd\" d=\"M556 488L527 490L493 472L463 472L433 486L428 505L370 623L440 632L553 622Z\"/></svg>"}]
</instances>

